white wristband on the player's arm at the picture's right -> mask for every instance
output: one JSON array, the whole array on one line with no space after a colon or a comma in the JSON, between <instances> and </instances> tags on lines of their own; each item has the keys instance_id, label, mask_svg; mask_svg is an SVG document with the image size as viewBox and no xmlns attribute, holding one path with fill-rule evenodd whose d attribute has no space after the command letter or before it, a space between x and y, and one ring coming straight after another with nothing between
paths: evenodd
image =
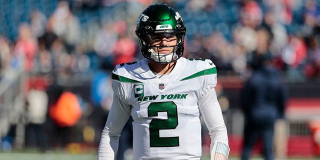
<instances>
[{"instance_id":1,"label":"white wristband on the player's arm at the picture's right","mask_svg":"<svg viewBox=\"0 0 320 160\"><path fill-rule=\"evenodd\" d=\"M226 143L221 141L214 141L210 149L211 160L226 160L228 159L230 148Z\"/></svg>"}]
</instances>

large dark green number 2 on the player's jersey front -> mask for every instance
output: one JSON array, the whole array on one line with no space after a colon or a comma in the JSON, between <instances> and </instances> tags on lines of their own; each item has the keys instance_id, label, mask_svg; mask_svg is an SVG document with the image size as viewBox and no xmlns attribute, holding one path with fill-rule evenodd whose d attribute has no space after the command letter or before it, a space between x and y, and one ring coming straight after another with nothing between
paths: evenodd
<instances>
[{"instance_id":1,"label":"large dark green number 2 on the player's jersey front","mask_svg":"<svg viewBox=\"0 0 320 160\"><path fill-rule=\"evenodd\" d=\"M179 146L179 137L160 137L160 129L175 129L178 125L177 109L174 102L152 102L148 106L148 116L158 116L166 112L167 119L152 119L149 123L150 147Z\"/></svg>"}]
</instances>

